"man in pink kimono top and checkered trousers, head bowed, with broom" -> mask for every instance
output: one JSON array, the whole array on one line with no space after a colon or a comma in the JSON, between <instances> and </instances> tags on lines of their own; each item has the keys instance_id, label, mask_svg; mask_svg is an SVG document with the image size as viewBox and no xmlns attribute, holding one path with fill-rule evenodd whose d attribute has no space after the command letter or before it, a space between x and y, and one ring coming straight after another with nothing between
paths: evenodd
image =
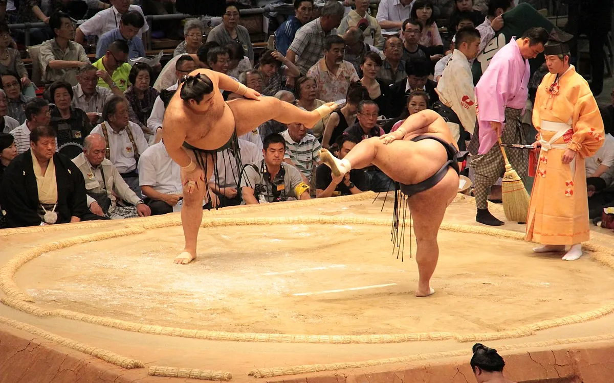
<instances>
[{"instance_id":1,"label":"man in pink kimono top and checkered trousers, head bowed, with broom","mask_svg":"<svg viewBox=\"0 0 614 383\"><path fill-rule=\"evenodd\" d=\"M520 39L512 37L492 58L488 68L475 86L478 127L473 132L470 151L474 155L470 166L475 172L476 221L500 226L502 221L488 211L488 191L505 173L503 155L497 143L528 143L520 118L529 96L529 61L543 52L548 32L530 28ZM532 140L531 140L532 141ZM479 145L479 150L476 147ZM475 153L477 151L477 153ZM518 175L527 182L529 150L506 148L505 153ZM477 155L475 155L477 154ZM523 222L524 223L524 222Z\"/></svg>"}]
</instances>

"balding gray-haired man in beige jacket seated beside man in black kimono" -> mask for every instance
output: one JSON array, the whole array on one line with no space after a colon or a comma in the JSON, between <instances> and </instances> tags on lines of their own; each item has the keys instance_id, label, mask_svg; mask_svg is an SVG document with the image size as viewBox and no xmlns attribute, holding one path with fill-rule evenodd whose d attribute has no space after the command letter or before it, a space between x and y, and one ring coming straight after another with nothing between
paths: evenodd
<instances>
[{"instance_id":1,"label":"balding gray-haired man in beige jacket seated beside man in black kimono","mask_svg":"<svg viewBox=\"0 0 614 383\"><path fill-rule=\"evenodd\" d=\"M85 179L87 206L101 217L112 219L148 217L150 208L131 191L122 175L109 159L105 158L106 142L99 134L85 137L83 153L72 162L81 170ZM131 206L120 206L126 202Z\"/></svg>"}]
</instances>

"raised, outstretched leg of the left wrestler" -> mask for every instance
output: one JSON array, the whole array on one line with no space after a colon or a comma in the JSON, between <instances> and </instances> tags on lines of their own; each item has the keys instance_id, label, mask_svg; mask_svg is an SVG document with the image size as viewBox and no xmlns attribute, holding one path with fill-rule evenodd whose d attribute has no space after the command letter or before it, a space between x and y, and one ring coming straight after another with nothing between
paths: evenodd
<instances>
[{"instance_id":1,"label":"raised, outstretched leg of the left wrestler","mask_svg":"<svg viewBox=\"0 0 614 383\"><path fill-rule=\"evenodd\" d=\"M261 97L260 100L236 99L228 101L227 104L235 116L237 135L249 133L270 119L282 124L301 123L308 128L313 127L337 107L334 102L328 102L308 112L275 97Z\"/></svg>"}]
</instances>

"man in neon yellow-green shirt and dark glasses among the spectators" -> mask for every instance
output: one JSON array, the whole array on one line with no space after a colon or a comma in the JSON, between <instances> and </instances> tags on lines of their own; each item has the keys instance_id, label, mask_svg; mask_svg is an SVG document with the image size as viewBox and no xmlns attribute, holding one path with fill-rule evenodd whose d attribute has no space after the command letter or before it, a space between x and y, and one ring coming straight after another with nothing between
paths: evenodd
<instances>
[{"instance_id":1,"label":"man in neon yellow-green shirt and dark glasses among the spectators","mask_svg":"<svg viewBox=\"0 0 614 383\"><path fill-rule=\"evenodd\" d=\"M132 67L128 61L128 53L130 48L125 40L115 40L107 48L104 56L94 63L94 66L99 70L105 70L112 79L112 83L107 83L102 77L98 79L98 86L103 88L114 88L117 86L122 92L125 92L130 86L130 70Z\"/></svg>"}]
</instances>

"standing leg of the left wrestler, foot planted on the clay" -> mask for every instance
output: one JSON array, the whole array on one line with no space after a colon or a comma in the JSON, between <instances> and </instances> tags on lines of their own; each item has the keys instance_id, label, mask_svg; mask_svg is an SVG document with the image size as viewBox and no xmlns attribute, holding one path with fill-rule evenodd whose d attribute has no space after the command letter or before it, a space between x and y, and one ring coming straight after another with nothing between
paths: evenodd
<instances>
[{"instance_id":1,"label":"standing leg of the left wrestler, foot planted on the clay","mask_svg":"<svg viewBox=\"0 0 614 383\"><path fill-rule=\"evenodd\" d=\"M186 150L188 155L195 161L192 151ZM203 222L203 199L207 192L207 181L211 178L211 173L214 169L214 161L211 156L207 157L207 172L204 175L204 180L198 179L196 186L192 189L192 192L188 192L188 184L185 180L185 173L181 172L181 181L183 188L183 207L181 208L181 225L184 229L185 248L175 258L176 264L187 265L192 260L196 259L196 242L198 240L198 229ZM204 169L203 169L204 172Z\"/></svg>"}]
</instances>

